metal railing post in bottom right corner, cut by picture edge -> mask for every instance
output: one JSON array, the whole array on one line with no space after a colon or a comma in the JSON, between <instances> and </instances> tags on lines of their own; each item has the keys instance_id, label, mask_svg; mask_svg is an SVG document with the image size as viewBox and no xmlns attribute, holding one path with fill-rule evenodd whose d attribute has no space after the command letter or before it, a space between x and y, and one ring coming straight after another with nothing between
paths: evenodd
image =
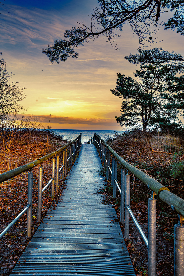
<instances>
[{"instance_id":1,"label":"metal railing post in bottom right corner, cut by picture edge","mask_svg":"<svg viewBox=\"0 0 184 276\"><path fill-rule=\"evenodd\" d=\"M174 276L183 275L184 268L184 227L183 217L178 215L178 224L174 225Z\"/></svg>"}]
</instances>

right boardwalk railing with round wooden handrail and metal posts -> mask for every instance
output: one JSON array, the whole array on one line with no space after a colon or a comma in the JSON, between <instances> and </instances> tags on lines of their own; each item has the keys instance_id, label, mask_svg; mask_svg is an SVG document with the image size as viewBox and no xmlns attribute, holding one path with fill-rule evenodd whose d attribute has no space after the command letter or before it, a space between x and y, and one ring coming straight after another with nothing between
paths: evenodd
<instances>
[{"instance_id":1,"label":"right boardwalk railing with round wooden handrail and metal posts","mask_svg":"<svg viewBox=\"0 0 184 276\"><path fill-rule=\"evenodd\" d=\"M90 142L93 143L93 140ZM178 214L178 224L174 225L174 276L184 275L184 200L171 193L167 187L151 178L144 172L135 168L118 155L100 136L94 134L94 144L106 168L106 177L109 179L111 173L111 185L113 186L113 197L116 198L117 189L121 194L120 222L124 223L124 237L129 238L129 217L131 216L137 226L143 240L148 248L148 276L156 273L156 199L155 195L169 205ZM110 168L110 153L112 167ZM117 162L124 167L121 169L121 188L117 182ZM142 231L138 221L130 209L130 175L125 175L125 170L132 172L134 176L145 183L152 191L148 200L148 239ZM130 214L130 216L129 216Z\"/></svg>"}]
</instances>

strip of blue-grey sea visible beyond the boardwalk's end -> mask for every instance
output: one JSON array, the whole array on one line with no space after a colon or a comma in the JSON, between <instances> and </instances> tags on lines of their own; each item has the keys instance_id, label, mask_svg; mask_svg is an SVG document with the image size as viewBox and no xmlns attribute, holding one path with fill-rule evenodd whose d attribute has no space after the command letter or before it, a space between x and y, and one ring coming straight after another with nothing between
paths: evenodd
<instances>
[{"instance_id":1,"label":"strip of blue-grey sea visible beyond the boardwalk's end","mask_svg":"<svg viewBox=\"0 0 184 276\"><path fill-rule=\"evenodd\" d=\"M88 142L89 139L94 135L98 134L102 139L107 137L113 137L115 134L114 130L95 130L95 129L51 129L55 134L62 136L62 139L74 140L80 133L82 133L82 144ZM116 131L121 134L123 131Z\"/></svg>"}]
</instances>

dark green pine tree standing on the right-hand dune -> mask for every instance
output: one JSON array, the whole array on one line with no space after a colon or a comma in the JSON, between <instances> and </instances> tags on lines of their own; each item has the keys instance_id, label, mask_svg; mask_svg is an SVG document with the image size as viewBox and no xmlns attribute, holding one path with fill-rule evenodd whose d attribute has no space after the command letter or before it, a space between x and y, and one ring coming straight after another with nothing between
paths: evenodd
<instances>
[{"instance_id":1,"label":"dark green pine tree standing on the right-hand dune","mask_svg":"<svg viewBox=\"0 0 184 276\"><path fill-rule=\"evenodd\" d=\"M140 65L136 79L117 73L116 88L111 92L123 99L121 115L115 117L120 126L148 126L162 128L164 124L180 123L177 105L170 104L172 95L184 89L184 76L175 77L169 64Z\"/></svg>"}]
</instances>

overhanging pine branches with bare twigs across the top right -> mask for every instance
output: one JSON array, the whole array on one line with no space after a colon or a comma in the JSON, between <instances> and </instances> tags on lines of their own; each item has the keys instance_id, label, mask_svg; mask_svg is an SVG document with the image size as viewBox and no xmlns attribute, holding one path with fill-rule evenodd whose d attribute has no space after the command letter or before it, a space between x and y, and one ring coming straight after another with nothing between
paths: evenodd
<instances>
[{"instance_id":1,"label":"overhanging pine branches with bare twigs across the top right","mask_svg":"<svg viewBox=\"0 0 184 276\"><path fill-rule=\"evenodd\" d=\"M156 43L157 38L154 36L162 24L158 20L168 9L174 11L174 15L163 24L165 29L177 28L178 33L184 34L184 3L181 0L98 0L98 3L99 7L95 7L90 15L90 25L78 22L78 27L65 31L65 39L56 39L52 46L43 49L42 53L51 63L66 61L68 57L78 58L75 48L100 35L105 35L113 47L118 49L114 44L115 38L127 23L138 35L139 46L144 46L145 41Z\"/></svg>"}]
</instances>

